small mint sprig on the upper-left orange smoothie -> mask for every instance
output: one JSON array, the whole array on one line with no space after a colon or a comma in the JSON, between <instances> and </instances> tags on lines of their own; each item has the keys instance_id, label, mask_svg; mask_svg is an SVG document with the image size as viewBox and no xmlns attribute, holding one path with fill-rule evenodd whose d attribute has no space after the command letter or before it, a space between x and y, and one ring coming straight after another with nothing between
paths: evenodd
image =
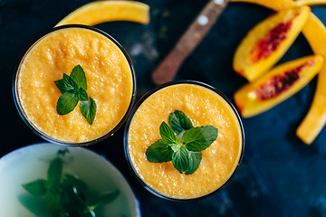
<instances>
[{"instance_id":1,"label":"small mint sprig on the upper-left orange smoothie","mask_svg":"<svg viewBox=\"0 0 326 217\"><path fill-rule=\"evenodd\" d=\"M86 118L89 124L92 124L95 119L97 106L95 100L91 99L86 92L87 80L82 66L75 66L70 76L63 73L62 80L55 80L54 83L62 92L56 106L58 114L69 114L75 109L78 102L82 101L80 106L82 116Z\"/></svg>"}]
</instances>

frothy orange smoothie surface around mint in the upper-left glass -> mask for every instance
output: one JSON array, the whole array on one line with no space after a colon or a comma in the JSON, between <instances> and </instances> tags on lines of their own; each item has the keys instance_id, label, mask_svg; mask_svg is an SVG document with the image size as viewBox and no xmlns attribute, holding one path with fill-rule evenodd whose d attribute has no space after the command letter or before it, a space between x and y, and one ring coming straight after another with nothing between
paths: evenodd
<instances>
[{"instance_id":1,"label":"frothy orange smoothie surface around mint in the upper-left glass","mask_svg":"<svg viewBox=\"0 0 326 217\"><path fill-rule=\"evenodd\" d=\"M54 80L81 65L87 93L97 104L92 125L79 104L59 115L62 95ZM82 28L67 28L43 36L26 52L17 76L17 97L26 118L48 137L62 142L88 142L116 127L126 114L133 94L132 72L123 52L109 38Z\"/></svg>"}]
</instances>

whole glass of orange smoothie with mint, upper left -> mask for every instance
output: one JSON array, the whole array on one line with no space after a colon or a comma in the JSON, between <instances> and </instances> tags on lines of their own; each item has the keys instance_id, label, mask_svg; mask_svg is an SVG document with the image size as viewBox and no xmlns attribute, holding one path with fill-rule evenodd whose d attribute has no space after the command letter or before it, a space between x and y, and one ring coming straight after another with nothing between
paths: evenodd
<instances>
[{"instance_id":1,"label":"whole glass of orange smoothie with mint, upper left","mask_svg":"<svg viewBox=\"0 0 326 217\"><path fill-rule=\"evenodd\" d=\"M37 135L87 146L110 137L126 120L136 80L128 53L108 33L65 25L25 52L13 90L20 116Z\"/></svg>"}]
</instances>

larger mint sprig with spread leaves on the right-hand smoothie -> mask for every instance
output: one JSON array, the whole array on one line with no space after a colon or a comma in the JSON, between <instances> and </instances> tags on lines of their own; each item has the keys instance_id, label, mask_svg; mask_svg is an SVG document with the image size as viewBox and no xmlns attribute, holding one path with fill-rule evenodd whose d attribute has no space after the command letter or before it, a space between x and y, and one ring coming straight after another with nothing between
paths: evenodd
<instances>
[{"instance_id":1,"label":"larger mint sprig with spread leaves on the right-hand smoothie","mask_svg":"<svg viewBox=\"0 0 326 217\"><path fill-rule=\"evenodd\" d=\"M162 137L150 145L146 151L149 162L172 161L179 173L193 174L202 160L201 151L216 140L218 129L213 126L194 127L190 118L176 110L168 117L168 124L159 126Z\"/></svg>"}]
</instances>

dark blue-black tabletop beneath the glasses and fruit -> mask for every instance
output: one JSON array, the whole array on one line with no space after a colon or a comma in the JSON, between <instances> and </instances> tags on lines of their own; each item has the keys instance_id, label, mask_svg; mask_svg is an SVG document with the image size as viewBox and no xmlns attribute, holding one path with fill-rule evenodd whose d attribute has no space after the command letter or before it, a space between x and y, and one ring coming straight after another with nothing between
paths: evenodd
<instances>
[{"instance_id":1,"label":"dark blue-black tabletop beneath the glasses and fruit","mask_svg":"<svg viewBox=\"0 0 326 217\"><path fill-rule=\"evenodd\" d=\"M26 49L66 14L86 0L1 0L0 71L2 96L0 156L16 148L43 142L26 127L14 108L12 78ZM115 22L97 27L110 33L129 52L135 65L138 98L153 88L150 73L177 42L200 8L202 0L152 0L149 25ZM312 11L326 24L326 8ZM177 80L200 80L232 99L245 80L232 70L236 46L255 24L273 12L264 7L232 3L177 74ZM312 54L300 35L283 61ZM326 216L325 129L312 146L295 137L295 129L310 107L316 79L291 99L254 118L244 119L245 156L225 188L195 202L160 199L131 175L123 153L123 128L90 148L106 156L129 181L143 216ZM0 177L1 178L1 177ZM1 215L1 214L0 214Z\"/></svg>"}]
</instances>

